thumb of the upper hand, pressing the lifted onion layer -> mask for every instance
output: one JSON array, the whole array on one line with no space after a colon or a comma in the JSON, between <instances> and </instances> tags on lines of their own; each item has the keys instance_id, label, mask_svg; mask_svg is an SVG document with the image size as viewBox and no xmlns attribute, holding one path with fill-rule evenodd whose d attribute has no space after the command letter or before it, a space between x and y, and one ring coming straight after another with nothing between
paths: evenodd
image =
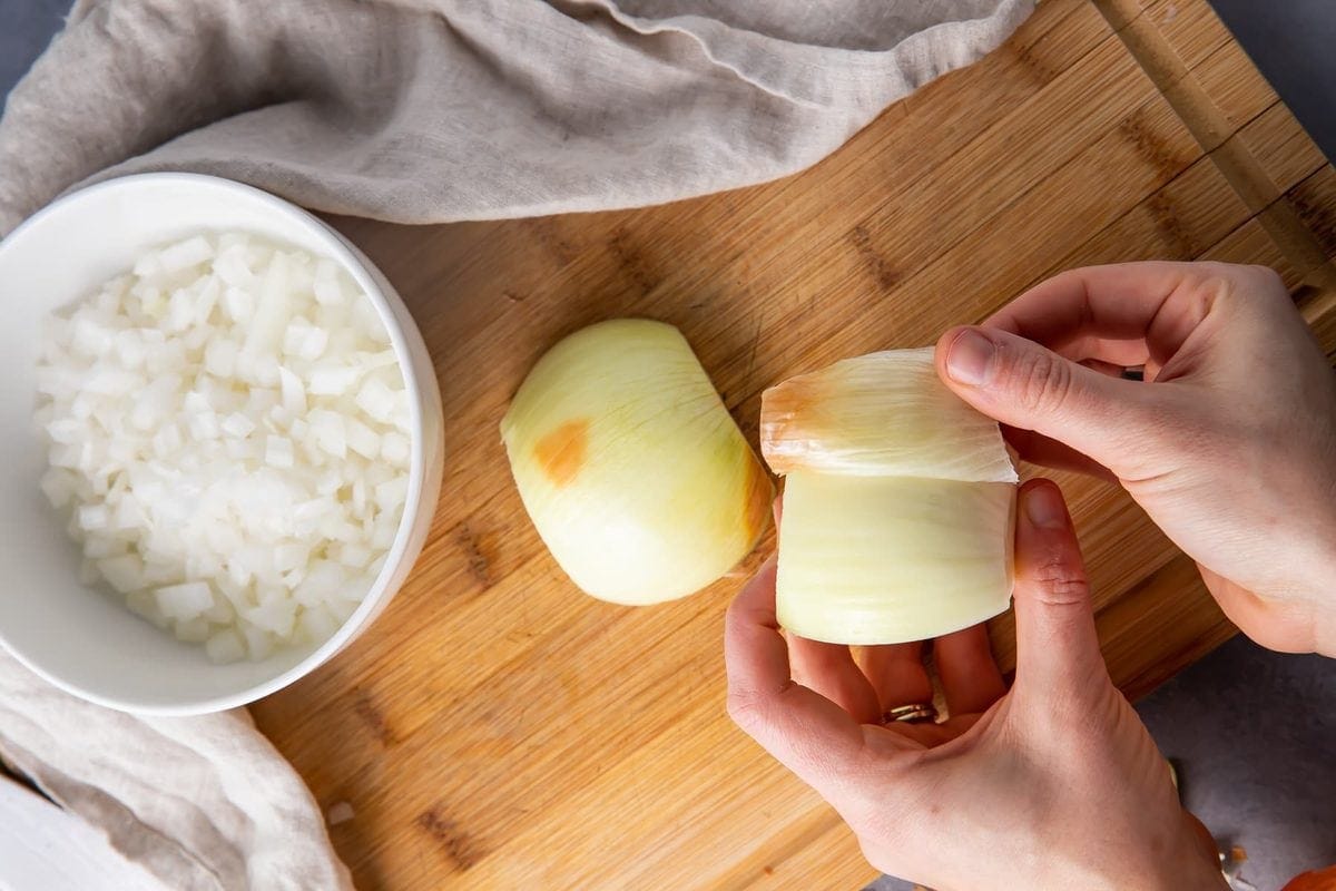
<instances>
[{"instance_id":1,"label":"thumb of the upper hand, pressing the lifted onion layer","mask_svg":"<svg viewBox=\"0 0 1336 891\"><path fill-rule=\"evenodd\" d=\"M957 327L937 343L942 381L983 414L1034 430L1120 476L1156 429L1158 394L1009 331Z\"/></svg>"}]
</instances>

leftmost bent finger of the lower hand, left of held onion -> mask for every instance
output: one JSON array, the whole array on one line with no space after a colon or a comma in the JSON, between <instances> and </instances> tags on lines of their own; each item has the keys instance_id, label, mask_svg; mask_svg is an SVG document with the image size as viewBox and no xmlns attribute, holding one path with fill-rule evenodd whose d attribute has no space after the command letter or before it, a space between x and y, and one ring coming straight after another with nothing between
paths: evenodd
<instances>
[{"instance_id":1,"label":"leftmost bent finger of the lower hand, left of held onion","mask_svg":"<svg viewBox=\"0 0 1336 891\"><path fill-rule=\"evenodd\" d=\"M818 791L839 784L862 752L862 731L839 705L794 683L775 620L774 558L728 608L724 663L733 721Z\"/></svg>"}]
</instances>

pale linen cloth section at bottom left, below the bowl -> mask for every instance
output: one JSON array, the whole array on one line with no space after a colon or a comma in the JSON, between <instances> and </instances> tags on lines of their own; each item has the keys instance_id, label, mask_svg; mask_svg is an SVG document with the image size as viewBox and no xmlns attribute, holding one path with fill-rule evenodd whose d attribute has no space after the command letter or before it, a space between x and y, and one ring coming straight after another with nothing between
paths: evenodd
<instances>
[{"instance_id":1,"label":"pale linen cloth section at bottom left, below the bowl","mask_svg":"<svg viewBox=\"0 0 1336 891\"><path fill-rule=\"evenodd\" d=\"M353 887L310 791L244 709L126 715L0 652L0 756L170 888Z\"/></svg>"}]
</instances>

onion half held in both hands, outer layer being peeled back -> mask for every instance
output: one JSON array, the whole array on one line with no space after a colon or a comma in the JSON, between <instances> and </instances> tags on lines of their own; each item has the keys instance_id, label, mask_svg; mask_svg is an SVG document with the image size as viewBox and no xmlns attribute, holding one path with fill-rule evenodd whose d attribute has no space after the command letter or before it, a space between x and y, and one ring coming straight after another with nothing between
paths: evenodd
<instances>
[{"instance_id":1,"label":"onion half held in both hands, outer layer being peeled back","mask_svg":"<svg viewBox=\"0 0 1336 891\"><path fill-rule=\"evenodd\" d=\"M933 349L860 355L766 390L784 484L780 625L835 644L959 631L1011 597L1015 468L998 425L946 389Z\"/></svg>"}]
</instances>

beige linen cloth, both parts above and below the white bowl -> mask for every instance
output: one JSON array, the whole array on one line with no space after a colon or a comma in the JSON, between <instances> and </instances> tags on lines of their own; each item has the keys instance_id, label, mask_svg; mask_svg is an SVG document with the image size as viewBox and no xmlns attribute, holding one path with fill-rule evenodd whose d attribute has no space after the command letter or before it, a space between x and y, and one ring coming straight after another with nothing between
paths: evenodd
<instances>
[{"instance_id":1,"label":"beige linen cloth, both parts above and below the white bowl","mask_svg":"<svg viewBox=\"0 0 1336 891\"><path fill-rule=\"evenodd\" d=\"M406 223L759 183L1033 3L79 0L0 119L0 234L72 186L159 170ZM350 887L244 712L132 717L0 653L0 753L170 887Z\"/></svg>"}]
</instances>

